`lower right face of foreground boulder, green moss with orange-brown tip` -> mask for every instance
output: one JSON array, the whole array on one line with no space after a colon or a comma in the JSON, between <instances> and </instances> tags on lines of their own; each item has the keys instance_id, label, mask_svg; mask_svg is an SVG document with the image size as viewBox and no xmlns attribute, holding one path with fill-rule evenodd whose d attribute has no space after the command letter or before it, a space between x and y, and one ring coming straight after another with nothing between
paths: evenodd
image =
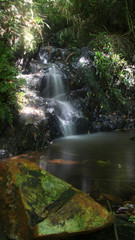
<instances>
[{"instance_id":1,"label":"lower right face of foreground boulder, green moss with orange-brown tip","mask_svg":"<svg viewBox=\"0 0 135 240\"><path fill-rule=\"evenodd\" d=\"M39 223L39 236L98 229L107 223L108 212L104 209L103 216L101 206L85 197L76 193L62 208Z\"/></svg>"}]
</instances>

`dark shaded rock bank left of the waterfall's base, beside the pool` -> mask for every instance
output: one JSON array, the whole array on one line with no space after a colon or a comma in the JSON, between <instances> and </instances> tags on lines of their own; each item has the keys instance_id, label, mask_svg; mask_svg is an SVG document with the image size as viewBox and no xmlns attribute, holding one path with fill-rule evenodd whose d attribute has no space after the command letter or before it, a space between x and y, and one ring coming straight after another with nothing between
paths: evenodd
<instances>
[{"instance_id":1,"label":"dark shaded rock bank left of the waterfall's base, beside the pool","mask_svg":"<svg viewBox=\"0 0 135 240\"><path fill-rule=\"evenodd\" d=\"M7 129L0 140L0 158L43 149L50 141L46 118L38 116L36 109L33 113L21 114L15 128Z\"/></svg>"}]
</instances>

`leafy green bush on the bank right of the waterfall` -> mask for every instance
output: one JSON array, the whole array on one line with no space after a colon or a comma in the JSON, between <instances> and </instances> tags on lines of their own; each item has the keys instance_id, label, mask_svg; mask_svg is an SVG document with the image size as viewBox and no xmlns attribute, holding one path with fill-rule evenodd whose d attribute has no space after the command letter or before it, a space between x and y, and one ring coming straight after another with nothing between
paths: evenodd
<instances>
[{"instance_id":1,"label":"leafy green bush on the bank right of the waterfall","mask_svg":"<svg viewBox=\"0 0 135 240\"><path fill-rule=\"evenodd\" d=\"M117 104L125 104L126 88L133 78L132 72L127 71L127 62L120 54L113 51L108 39L100 43L102 51L95 51L94 63L98 79L98 98L105 109Z\"/></svg>"}]
</instances>

